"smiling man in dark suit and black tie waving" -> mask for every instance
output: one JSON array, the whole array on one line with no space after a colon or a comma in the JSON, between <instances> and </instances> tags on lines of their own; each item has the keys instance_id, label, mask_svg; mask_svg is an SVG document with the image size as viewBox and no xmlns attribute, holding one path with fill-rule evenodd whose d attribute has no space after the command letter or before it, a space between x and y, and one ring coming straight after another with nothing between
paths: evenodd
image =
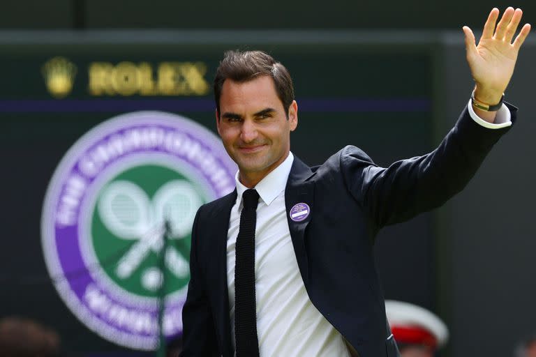
<instances>
[{"instance_id":1,"label":"smiling man in dark suit and black tie waving","mask_svg":"<svg viewBox=\"0 0 536 357\"><path fill-rule=\"evenodd\" d=\"M193 223L183 356L399 356L385 318L373 241L385 225L459 192L515 121L502 103L527 24L493 9L478 47L476 86L435 151L375 165L346 146L320 167L290 152L298 107L288 71L263 52L228 52L214 80L216 123L237 162L237 190Z\"/></svg>"}]
</instances>

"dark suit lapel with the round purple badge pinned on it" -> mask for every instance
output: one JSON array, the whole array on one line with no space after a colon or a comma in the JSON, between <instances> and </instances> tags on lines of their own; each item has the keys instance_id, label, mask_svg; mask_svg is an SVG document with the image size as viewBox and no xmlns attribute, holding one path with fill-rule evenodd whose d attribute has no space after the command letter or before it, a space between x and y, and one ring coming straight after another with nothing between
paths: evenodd
<instances>
[{"instance_id":1,"label":"dark suit lapel with the round purple badge pinned on it","mask_svg":"<svg viewBox=\"0 0 536 357\"><path fill-rule=\"evenodd\" d=\"M294 158L292 169L288 176L287 187L285 188L285 206L287 211L288 229L292 238L292 245L301 273L301 278L304 283L308 280L308 264L307 252L305 249L304 234L308 223L311 221L311 212L313 211L314 198L314 183L308 181L313 176L311 169L301 162L298 158ZM297 220L291 217L292 208L297 204L306 204L308 208L301 206L302 212L306 209L308 213L303 220ZM299 218L298 218L299 219Z\"/></svg>"}]
</instances>

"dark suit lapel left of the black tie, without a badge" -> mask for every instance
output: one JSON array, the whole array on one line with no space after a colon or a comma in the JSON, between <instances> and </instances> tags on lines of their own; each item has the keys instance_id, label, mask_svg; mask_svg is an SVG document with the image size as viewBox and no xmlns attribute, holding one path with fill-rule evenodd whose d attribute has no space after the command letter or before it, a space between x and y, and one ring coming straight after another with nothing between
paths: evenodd
<instances>
[{"instance_id":1,"label":"dark suit lapel left of the black tie, without a badge","mask_svg":"<svg viewBox=\"0 0 536 357\"><path fill-rule=\"evenodd\" d=\"M230 195L225 196L221 204L214 210L214 216L211 219L211 231L216 234L216 279L218 287L215 289L215 294L222 294L222 296L216 296L218 306L215 314L216 328L218 329L218 335L222 338L223 344L223 356L232 356L232 344L231 344L231 331L230 331L230 318L229 318L229 291L227 282L227 235L229 231L229 220L231 215L231 208L234 202L237 200L237 190L235 189Z\"/></svg>"}]
</instances>

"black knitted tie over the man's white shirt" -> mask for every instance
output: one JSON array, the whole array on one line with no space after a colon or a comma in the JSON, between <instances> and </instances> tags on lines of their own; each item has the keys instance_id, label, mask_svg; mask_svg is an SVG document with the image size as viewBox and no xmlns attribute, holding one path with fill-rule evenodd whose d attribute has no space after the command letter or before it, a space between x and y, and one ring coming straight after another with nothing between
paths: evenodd
<instances>
[{"instance_id":1,"label":"black knitted tie over the man's white shirt","mask_svg":"<svg viewBox=\"0 0 536 357\"><path fill-rule=\"evenodd\" d=\"M246 190L244 207L235 247L234 264L234 336L237 357L259 356L257 315L255 312L255 222L259 194Z\"/></svg>"}]
</instances>

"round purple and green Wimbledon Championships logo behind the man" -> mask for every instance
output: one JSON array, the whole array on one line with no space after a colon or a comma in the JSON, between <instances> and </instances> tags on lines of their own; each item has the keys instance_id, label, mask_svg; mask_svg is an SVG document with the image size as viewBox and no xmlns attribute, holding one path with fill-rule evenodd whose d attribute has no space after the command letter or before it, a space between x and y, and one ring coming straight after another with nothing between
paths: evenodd
<instances>
[{"instance_id":1,"label":"round purple and green Wimbledon Championships logo behind the man","mask_svg":"<svg viewBox=\"0 0 536 357\"><path fill-rule=\"evenodd\" d=\"M234 189L234 172L218 137L174 114L116 116L80 138L54 172L41 222L47 268L78 319L154 349L163 294L163 331L181 334L193 219Z\"/></svg>"}]
</instances>

